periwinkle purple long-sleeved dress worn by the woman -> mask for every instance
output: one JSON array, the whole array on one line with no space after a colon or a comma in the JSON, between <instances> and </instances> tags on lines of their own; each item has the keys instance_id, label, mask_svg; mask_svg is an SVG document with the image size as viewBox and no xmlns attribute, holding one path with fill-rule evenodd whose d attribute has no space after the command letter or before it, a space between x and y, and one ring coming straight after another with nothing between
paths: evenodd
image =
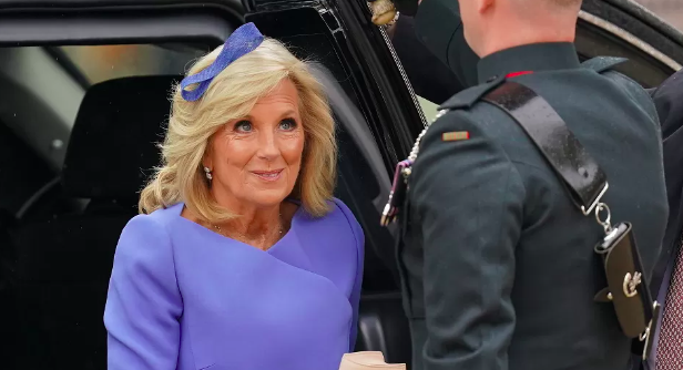
<instances>
[{"instance_id":1,"label":"periwinkle purple long-sleeved dress worn by the woman","mask_svg":"<svg viewBox=\"0 0 683 370\"><path fill-rule=\"evenodd\" d=\"M354 348L364 235L350 210L309 217L263 251L181 216L123 229L104 323L110 370L336 370Z\"/></svg>"}]
</instances>

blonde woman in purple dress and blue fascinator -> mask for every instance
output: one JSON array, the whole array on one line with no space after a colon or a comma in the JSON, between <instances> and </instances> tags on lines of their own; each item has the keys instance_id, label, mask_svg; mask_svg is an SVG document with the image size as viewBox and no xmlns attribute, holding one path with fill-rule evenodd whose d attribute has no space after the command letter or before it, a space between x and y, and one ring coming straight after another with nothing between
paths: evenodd
<instances>
[{"instance_id":1,"label":"blonde woman in purple dress and blue fascinator","mask_svg":"<svg viewBox=\"0 0 683 370\"><path fill-rule=\"evenodd\" d=\"M364 235L332 198L335 164L306 63L251 23L201 59L121 234L109 369L337 369L355 342Z\"/></svg>"}]
</instances>

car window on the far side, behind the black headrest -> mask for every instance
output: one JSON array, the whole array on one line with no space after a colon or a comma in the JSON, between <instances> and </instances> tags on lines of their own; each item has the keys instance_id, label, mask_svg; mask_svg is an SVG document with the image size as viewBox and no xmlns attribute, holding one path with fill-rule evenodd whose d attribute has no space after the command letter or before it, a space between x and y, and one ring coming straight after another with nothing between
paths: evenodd
<instances>
[{"instance_id":1,"label":"car window on the far side, behind the black headrest","mask_svg":"<svg viewBox=\"0 0 683 370\"><path fill-rule=\"evenodd\" d=\"M91 85L134 75L181 75L205 52L169 44L0 48L0 81L16 92L0 104L0 140L8 141L2 158L13 158L0 166L8 174L0 206L18 214L60 172Z\"/></svg>"}]
</instances>

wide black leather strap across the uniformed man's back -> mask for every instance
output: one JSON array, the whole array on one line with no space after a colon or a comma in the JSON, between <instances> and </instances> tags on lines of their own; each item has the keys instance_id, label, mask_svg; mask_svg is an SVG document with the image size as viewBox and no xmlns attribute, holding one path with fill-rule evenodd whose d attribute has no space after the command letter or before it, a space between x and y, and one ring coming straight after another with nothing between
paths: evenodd
<instances>
[{"instance_id":1,"label":"wide black leather strap across the uniformed man's back","mask_svg":"<svg viewBox=\"0 0 683 370\"><path fill-rule=\"evenodd\" d=\"M592 212L608 188L606 175L555 110L533 90L512 81L500 84L482 100L503 110L524 129L569 187L574 204L584 215Z\"/></svg>"}]
</instances>

